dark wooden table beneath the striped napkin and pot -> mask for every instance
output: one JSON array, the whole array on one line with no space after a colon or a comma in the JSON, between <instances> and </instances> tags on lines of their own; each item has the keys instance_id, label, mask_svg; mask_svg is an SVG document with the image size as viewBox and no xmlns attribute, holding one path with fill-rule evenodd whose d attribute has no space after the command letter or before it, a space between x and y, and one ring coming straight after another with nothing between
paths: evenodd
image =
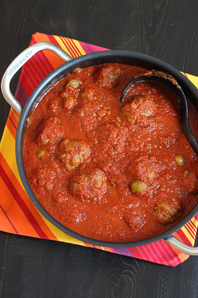
<instances>
[{"instance_id":1,"label":"dark wooden table beneath the striped napkin and pot","mask_svg":"<svg viewBox=\"0 0 198 298\"><path fill-rule=\"evenodd\" d=\"M196 0L0 0L0 5L1 78L35 32L149 54L198 76ZM19 72L12 93L18 79ZM2 94L0 100L2 136L10 106ZM1 298L193 298L198 257L172 268L0 232L0 281Z\"/></svg>"}]
</instances>

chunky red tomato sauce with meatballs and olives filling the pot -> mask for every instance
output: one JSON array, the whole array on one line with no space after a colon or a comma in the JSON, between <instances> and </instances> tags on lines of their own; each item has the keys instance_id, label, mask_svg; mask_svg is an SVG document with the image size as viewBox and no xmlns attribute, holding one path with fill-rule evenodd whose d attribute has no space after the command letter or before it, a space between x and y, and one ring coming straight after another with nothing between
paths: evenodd
<instances>
[{"instance_id":1,"label":"chunky red tomato sauce with meatballs and olives filling the pot","mask_svg":"<svg viewBox=\"0 0 198 298\"><path fill-rule=\"evenodd\" d=\"M74 70L46 93L26 127L32 191L55 219L90 238L152 237L196 202L198 160L180 130L171 91L138 83L119 102L141 72L124 64ZM198 115L190 103L189 109L198 138Z\"/></svg>"}]
</instances>

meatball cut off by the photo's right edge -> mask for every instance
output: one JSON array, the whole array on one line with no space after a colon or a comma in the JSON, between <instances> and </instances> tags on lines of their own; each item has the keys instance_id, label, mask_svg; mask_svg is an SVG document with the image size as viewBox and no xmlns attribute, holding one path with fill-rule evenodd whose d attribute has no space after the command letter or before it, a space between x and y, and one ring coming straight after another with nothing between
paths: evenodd
<instances>
[{"instance_id":1,"label":"meatball cut off by the photo's right edge","mask_svg":"<svg viewBox=\"0 0 198 298\"><path fill-rule=\"evenodd\" d=\"M198 175L195 169L185 169L183 171L183 186L190 193L196 193L198 191Z\"/></svg>"}]
</instances>

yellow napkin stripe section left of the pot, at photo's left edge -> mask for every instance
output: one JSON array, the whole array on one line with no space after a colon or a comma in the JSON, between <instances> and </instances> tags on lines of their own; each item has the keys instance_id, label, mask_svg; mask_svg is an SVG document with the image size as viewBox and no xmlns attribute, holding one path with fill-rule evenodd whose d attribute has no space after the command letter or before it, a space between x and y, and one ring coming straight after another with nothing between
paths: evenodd
<instances>
[{"instance_id":1,"label":"yellow napkin stripe section left of the pot, at photo's left edge","mask_svg":"<svg viewBox=\"0 0 198 298\"><path fill-rule=\"evenodd\" d=\"M20 185L23 187L23 183L21 182L21 178L19 176L19 172L16 164L16 155L15 155L15 139L13 138L10 130L7 125L5 126L2 141L0 144L0 151L14 173L15 177L19 181ZM25 190L25 189L24 189Z\"/></svg>"}]
</instances>

